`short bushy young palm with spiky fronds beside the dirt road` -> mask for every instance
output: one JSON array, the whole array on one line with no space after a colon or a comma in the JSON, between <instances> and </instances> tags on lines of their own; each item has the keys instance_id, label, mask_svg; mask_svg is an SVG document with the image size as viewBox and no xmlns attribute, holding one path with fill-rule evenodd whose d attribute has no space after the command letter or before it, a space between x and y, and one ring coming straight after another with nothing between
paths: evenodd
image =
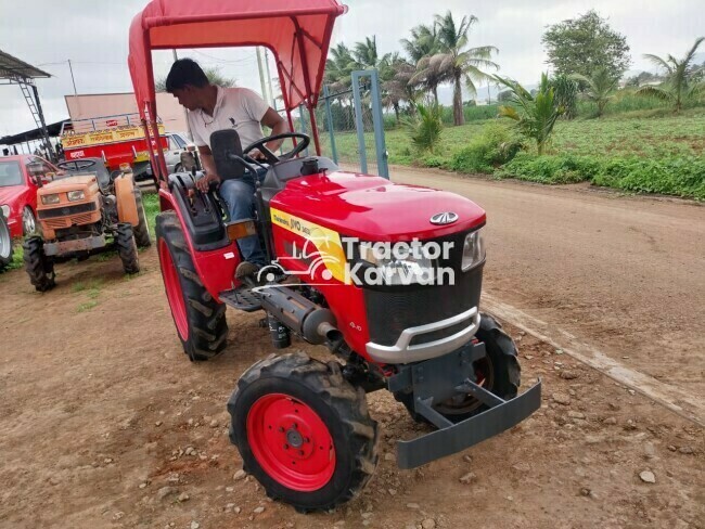
<instances>
[{"instance_id":1,"label":"short bushy young palm with spiky fronds beside the dirt road","mask_svg":"<svg viewBox=\"0 0 705 529\"><path fill-rule=\"evenodd\" d=\"M546 74L541 74L541 83L533 95L518 82L495 76L495 79L512 91L512 106L500 106L499 115L516 121L524 137L536 142L539 155L551 141L555 121L563 114L563 108L556 106L553 87Z\"/></svg>"}]
</instances>

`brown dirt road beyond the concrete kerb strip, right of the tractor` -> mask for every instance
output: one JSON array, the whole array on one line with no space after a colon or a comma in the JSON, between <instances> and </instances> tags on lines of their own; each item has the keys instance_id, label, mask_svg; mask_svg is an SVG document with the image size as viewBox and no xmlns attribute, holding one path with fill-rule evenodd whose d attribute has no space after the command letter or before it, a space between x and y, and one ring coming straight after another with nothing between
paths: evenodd
<instances>
[{"instance_id":1,"label":"brown dirt road beyond the concrete kerb strip, right of the tractor","mask_svg":"<svg viewBox=\"0 0 705 529\"><path fill-rule=\"evenodd\" d=\"M485 208L491 297L705 401L705 207L400 167L392 177Z\"/></svg>"}]
</instances>

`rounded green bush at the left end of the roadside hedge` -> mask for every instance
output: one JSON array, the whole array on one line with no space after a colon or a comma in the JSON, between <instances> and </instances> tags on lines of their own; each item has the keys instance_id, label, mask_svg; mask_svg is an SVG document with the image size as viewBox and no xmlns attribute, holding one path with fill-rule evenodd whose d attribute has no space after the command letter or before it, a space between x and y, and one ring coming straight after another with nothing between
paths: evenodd
<instances>
[{"instance_id":1,"label":"rounded green bush at the left end of the roadside hedge","mask_svg":"<svg viewBox=\"0 0 705 529\"><path fill-rule=\"evenodd\" d=\"M489 121L466 147L453 155L449 168L459 172L492 172L514 158L522 146L513 128Z\"/></svg>"}]
</instances>

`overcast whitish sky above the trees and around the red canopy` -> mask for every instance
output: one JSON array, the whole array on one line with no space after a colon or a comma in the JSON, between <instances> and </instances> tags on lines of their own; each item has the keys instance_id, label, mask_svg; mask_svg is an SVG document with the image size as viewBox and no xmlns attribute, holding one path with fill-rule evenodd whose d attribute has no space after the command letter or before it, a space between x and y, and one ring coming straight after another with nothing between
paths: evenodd
<instances>
[{"instance_id":1,"label":"overcast whitish sky above the trees and around the red canopy","mask_svg":"<svg viewBox=\"0 0 705 529\"><path fill-rule=\"evenodd\" d=\"M197 0L194 0L197 1ZM546 70L541 35L549 24L595 9L631 48L631 69L653 69L643 53L682 56L696 37L705 35L703 0L347 0L348 13L338 20L333 42L350 44L376 35L381 53L400 51L399 39L416 24L430 23L434 13L450 10L457 20L474 14L471 46L499 48L501 73L535 83ZM73 93L66 60L74 67L78 93L127 92L127 36L132 16L146 0L0 0L0 50L40 66L51 79L37 81L47 122L67 116L64 94ZM704 50L705 51L705 50ZM259 90L252 50L181 51L207 66ZM170 52L155 54L156 76L166 75ZM273 69L272 69L273 72ZM34 128L16 86L0 86L0 137Z\"/></svg>"}]
</instances>

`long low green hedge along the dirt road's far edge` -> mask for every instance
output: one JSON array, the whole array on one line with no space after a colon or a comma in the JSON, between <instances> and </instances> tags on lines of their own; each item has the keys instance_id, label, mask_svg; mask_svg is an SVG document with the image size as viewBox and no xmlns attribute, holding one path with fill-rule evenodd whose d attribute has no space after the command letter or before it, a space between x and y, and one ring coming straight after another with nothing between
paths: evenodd
<instances>
[{"instance_id":1,"label":"long low green hedge along the dirt road's far edge","mask_svg":"<svg viewBox=\"0 0 705 529\"><path fill-rule=\"evenodd\" d=\"M696 156L649 159L521 153L497 175L540 183L591 181L625 191L705 199L705 160Z\"/></svg>"}]
</instances>

